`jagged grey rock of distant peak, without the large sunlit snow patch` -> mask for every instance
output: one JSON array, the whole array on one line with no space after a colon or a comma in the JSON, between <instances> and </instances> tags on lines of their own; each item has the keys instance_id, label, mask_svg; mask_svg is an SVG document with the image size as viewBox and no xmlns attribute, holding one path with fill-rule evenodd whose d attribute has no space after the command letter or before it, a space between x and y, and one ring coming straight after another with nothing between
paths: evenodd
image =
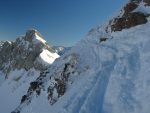
<instances>
[{"instance_id":1,"label":"jagged grey rock of distant peak, without the large sunlit snow patch","mask_svg":"<svg viewBox=\"0 0 150 113\"><path fill-rule=\"evenodd\" d=\"M41 41L37 40L35 35L40 37ZM0 70L7 75L11 70L21 68L35 68L40 71L46 69L37 61L43 48L52 50L36 30L27 31L25 36L17 38L15 42L4 42L0 49Z\"/></svg>"}]
</instances>

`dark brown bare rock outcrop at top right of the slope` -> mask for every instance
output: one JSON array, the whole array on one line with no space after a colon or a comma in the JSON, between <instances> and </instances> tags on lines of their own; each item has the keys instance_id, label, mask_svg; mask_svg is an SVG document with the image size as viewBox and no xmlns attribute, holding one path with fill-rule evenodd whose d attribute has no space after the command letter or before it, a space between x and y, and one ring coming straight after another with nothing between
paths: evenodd
<instances>
[{"instance_id":1,"label":"dark brown bare rock outcrop at top right of the slope","mask_svg":"<svg viewBox=\"0 0 150 113\"><path fill-rule=\"evenodd\" d=\"M149 1L149 0L148 0ZM114 18L111 21L111 31L121 31L137 25L147 23L149 15L142 12L133 12L142 0L131 0L124 8L121 17ZM147 3L147 2L146 2Z\"/></svg>"}]
</instances>

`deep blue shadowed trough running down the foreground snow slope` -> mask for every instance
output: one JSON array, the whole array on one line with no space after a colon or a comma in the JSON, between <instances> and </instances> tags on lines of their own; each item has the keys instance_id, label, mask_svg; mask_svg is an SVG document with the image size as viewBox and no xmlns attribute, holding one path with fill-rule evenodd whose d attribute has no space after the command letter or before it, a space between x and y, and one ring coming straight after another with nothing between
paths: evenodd
<instances>
[{"instance_id":1,"label":"deep blue shadowed trough running down the foreground snow slope","mask_svg":"<svg viewBox=\"0 0 150 113\"><path fill-rule=\"evenodd\" d=\"M97 44L96 44L97 45ZM95 44L93 45L95 46ZM108 50L113 50L111 47L103 47ZM93 54L97 56L97 51L100 51L100 47L97 45L94 47ZM99 54L99 53L98 53ZM115 65L116 60L114 58L109 62L99 61L100 58L95 58L96 62L101 62L102 69L98 69L97 74L89 75L87 83L83 86L82 93L75 93L71 96L67 104L64 106L63 113L100 113L103 107L103 99L107 84L111 75L111 71ZM111 64L111 65L108 65ZM109 71L108 71L109 70ZM93 75L95 75L93 77ZM91 79L92 77L92 79ZM92 100L91 100L92 99ZM99 105L96 107L96 105ZM88 110L87 110L88 109ZM59 112L59 113L62 113Z\"/></svg>"}]
</instances>

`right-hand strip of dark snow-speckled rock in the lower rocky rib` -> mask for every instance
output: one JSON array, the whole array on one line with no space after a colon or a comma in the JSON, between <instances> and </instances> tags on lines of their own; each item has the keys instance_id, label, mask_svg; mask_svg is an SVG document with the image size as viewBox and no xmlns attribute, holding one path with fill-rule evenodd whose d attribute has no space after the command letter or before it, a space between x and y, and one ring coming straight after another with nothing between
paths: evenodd
<instances>
[{"instance_id":1,"label":"right-hand strip of dark snow-speckled rock in the lower rocky rib","mask_svg":"<svg viewBox=\"0 0 150 113\"><path fill-rule=\"evenodd\" d=\"M69 58L70 62L64 64L61 71L50 77L51 84L47 88L47 93L51 105L53 105L59 97L65 94L70 75L77 72L76 65L78 56L76 54L71 54L66 58ZM54 93L55 91L57 92L57 95Z\"/></svg>"}]
</instances>

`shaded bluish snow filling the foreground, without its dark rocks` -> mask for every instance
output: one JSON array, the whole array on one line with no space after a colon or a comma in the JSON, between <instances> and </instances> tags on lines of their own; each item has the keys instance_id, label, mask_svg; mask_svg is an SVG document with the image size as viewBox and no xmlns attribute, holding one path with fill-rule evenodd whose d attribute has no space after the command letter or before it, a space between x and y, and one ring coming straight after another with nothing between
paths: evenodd
<instances>
[{"instance_id":1,"label":"shaded bluish snow filling the foreground, without its dark rocks","mask_svg":"<svg viewBox=\"0 0 150 113\"><path fill-rule=\"evenodd\" d=\"M64 64L75 65L69 70L74 73L69 77L65 94L50 105L44 90L23 106L21 113L150 113L148 19L146 24L121 32L106 34L105 27L93 30L49 67L45 89L51 84L49 78L57 76ZM101 37L108 39L100 43ZM12 85L10 79L0 86L0 112L10 113L19 105L27 82L14 92L11 87L16 83Z\"/></svg>"}]
</instances>

